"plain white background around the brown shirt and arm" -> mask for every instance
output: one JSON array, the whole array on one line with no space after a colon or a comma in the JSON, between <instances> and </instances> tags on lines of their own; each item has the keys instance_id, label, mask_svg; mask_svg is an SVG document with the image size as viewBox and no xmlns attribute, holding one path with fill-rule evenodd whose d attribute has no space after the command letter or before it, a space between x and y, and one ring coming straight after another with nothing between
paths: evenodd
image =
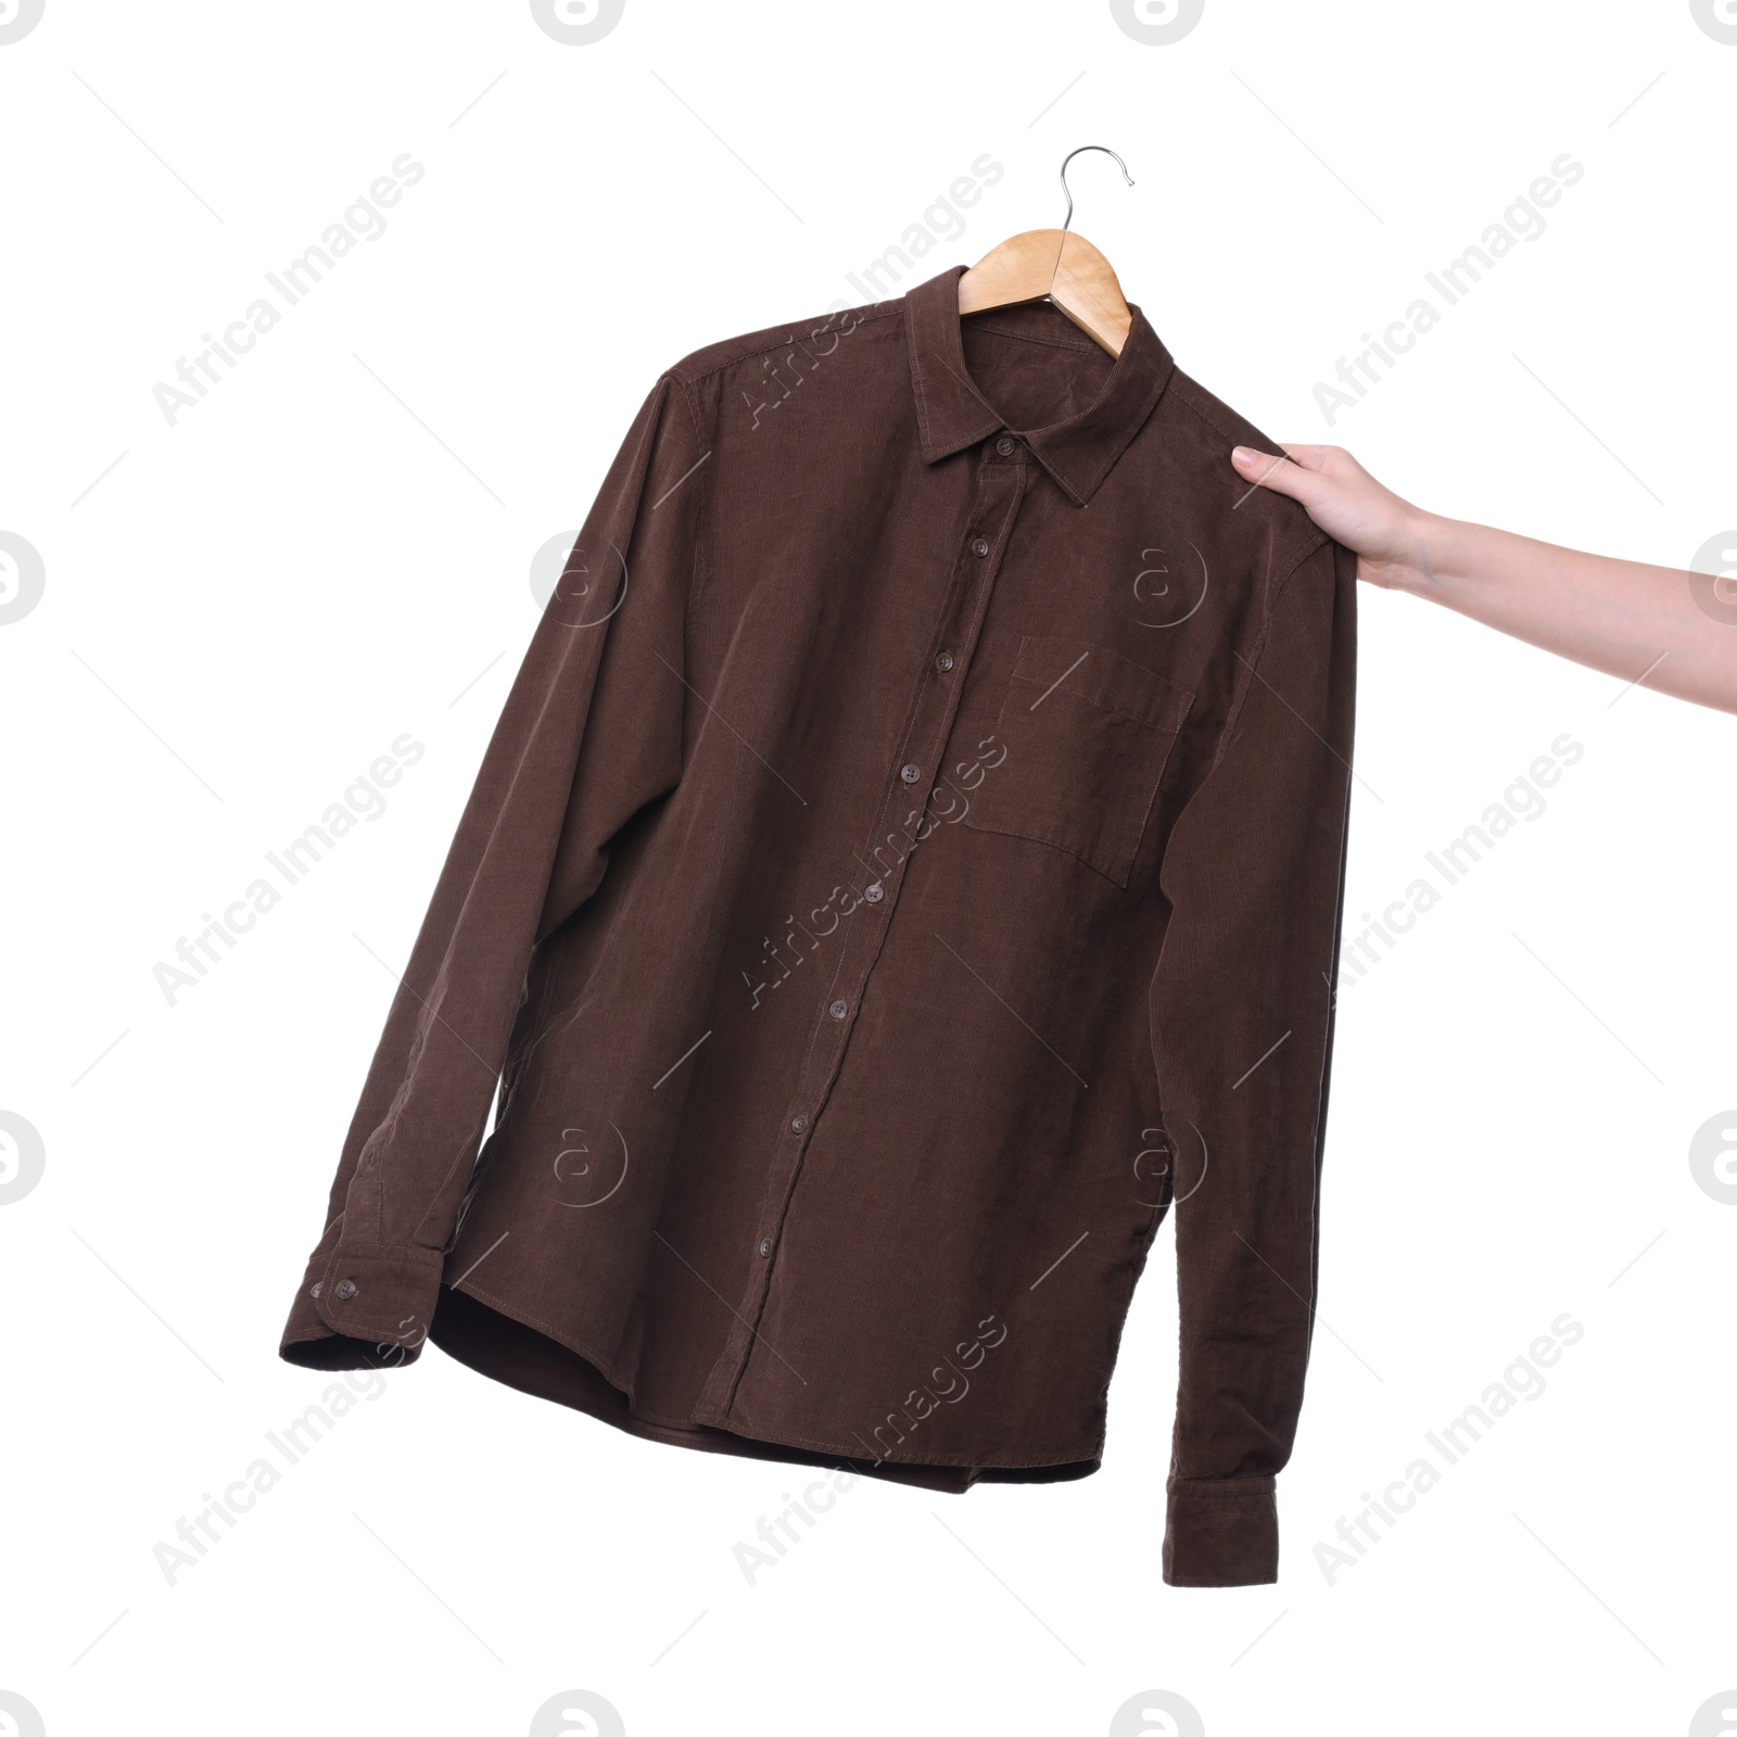
<instances>
[{"instance_id":1,"label":"plain white background around the brown shirt and arm","mask_svg":"<svg viewBox=\"0 0 1737 1737\"><path fill-rule=\"evenodd\" d=\"M439 1351L174 1584L153 1549L330 1384L276 1344L391 971L532 558L665 365L870 299L846 273L983 153L895 294L1058 224L1101 142L1136 184L1079 160L1075 228L1270 436L1687 568L1737 525L1734 92L1687 0L1207 0L1167 47L1100 0L627 0L580 47L525 3L49 0L0 47L0 530L45 570L0 627L0 1110L45 1146L0 1207L0 1690L49 1737L523 1734L570 1688L632 1737L1103 1734L1159 1688L1212 1737L1688 1732L1737 1685L1737 1207L1688 1164L1737 1105L1737 721L1370 587L1348 928L1563 731L1584 756L1341 995L1278 1584L1160 1581L1167 1232L1100 1475L865 1480L754 1586L733 1546L797 1468ZM153 387L401 153L386 233L170 426ZM1546 233L1329 429L1317 382L1562 153ZM406 731L386 813L170 1006L153 968ZM1329 1581L1339 1516L1563 1311L1548 1390Z\"/></svg>"}]
</instances>

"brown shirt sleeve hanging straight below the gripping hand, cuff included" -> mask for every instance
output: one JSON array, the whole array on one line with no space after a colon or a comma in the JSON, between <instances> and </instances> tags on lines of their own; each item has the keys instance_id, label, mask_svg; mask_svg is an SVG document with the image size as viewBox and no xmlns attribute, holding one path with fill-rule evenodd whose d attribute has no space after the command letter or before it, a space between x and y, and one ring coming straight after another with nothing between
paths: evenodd
<instances>
[{"instance_id":1,"label":"brown shirt sleeve hanging straight below the gripping hand, cuff included","mask_svg":"<svg viewBox=\"0 0 1737 1737\"><path fill-rule=\"evenodd\" d=\"M1164 1579L1278 1577L1315 1322L1355 709L1355 556L1332 542L1275 580L1218 759L1162 867L1152 985L1176 1153L1181 1377Z\"/></svg>"}]
</instances>

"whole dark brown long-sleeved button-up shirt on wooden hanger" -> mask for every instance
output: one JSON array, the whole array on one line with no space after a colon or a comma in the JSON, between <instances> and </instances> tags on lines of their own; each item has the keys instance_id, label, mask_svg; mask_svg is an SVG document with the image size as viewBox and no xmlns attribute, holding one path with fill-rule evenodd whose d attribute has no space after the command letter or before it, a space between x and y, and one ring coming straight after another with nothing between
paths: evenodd
<instances>
[{"instance_id":1,"label":"whole dark brown long-sleeved button-up shirt on wooden hanger","mask_svg":"<svg viewBox=\"0 0 1737 1737\"><path fill-rule=\"evenodd\" d=\"M1164 1577L1271 1581L1353 558L1237 478L1271 443L1138 309L1110 358L1049 304L962 323L959 273L657 380L459 822L283 1355L433 1337L660 1442L1075 1478L1174 1204Z\"/></svg>"}]
</instances>

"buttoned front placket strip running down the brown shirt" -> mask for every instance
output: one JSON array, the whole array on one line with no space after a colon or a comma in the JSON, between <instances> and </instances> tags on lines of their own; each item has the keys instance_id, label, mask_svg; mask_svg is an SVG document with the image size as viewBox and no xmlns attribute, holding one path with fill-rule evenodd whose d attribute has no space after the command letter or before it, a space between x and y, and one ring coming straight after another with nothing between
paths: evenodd
<instances>
[{"instance_id":1,"label":"buttoned front placket strip running down the brown shirt","mask_svg":"<svg viewBox=\"0 0 1737 1737\"><path fill-rule=\"evenodd\" d=\"M928 811L929 787L938 782L928 776L924 766L941 768L941 756L947 749L959 702L964 693L964 681L943 681L940 676L969 670L976 651L983 617L995 587L995 577L1006 558L1013 526L1018 523L1020 504L1025 497L1025 467L1018 464L995 464L985 450L978 464L976 481L971 499L971 512L966 518L966 535L954 559L950 594L941 617L938 637L947 651L938 655L924 653L917 674L917 695L905 735L907 752L917 749L910 759L896 763L896 775L884 787L881 813L875 823L875 839L888 837L889 818L900 820L903 830L902 799L908 790L922 782L922 794L915 799L915 823ZM994 540L985 532L994 533ZM981 549L978 549L981 544ZM945 771L945 768L941 768ZM910 775L915 773L912 778ZM816 1009L815 1030L804 1053L801 1075L796 1082L794 1101L808 1105L808 1115L792 1115L787 1133L782 1134L771 1153L771 1174L768 1176L768 1216L761 1225L761 1238L754 1245L757 1256L750 1263L747 1294L736 1325L723 1348L719 1362L712 1369L702 1397L702 1409L710 1412L710 1421L728 1423L735 1405L736 1390L747 1372L754 1355L756 1332L771 1292L775 1275L773 1251L783 1233L783 1226L796 1199L801 1167L813 1139L815 1120L825 1108L827 1096L844 1056L849 1049L855 1030L855 1013L862 1006L862 997L886 936L893 922L893 910L905 884L905 862L910 849L921 842L912 837L907 849L898 853L895 863L879 860L881 844L870 846L875 862L865 863L875 870L875 879L863 889L863 905L853 915L851 929L844 940L839 962L832 978L832 997ZM796 1138L790 1138L796 1136Z\"/></svg>"}]
</instances>

